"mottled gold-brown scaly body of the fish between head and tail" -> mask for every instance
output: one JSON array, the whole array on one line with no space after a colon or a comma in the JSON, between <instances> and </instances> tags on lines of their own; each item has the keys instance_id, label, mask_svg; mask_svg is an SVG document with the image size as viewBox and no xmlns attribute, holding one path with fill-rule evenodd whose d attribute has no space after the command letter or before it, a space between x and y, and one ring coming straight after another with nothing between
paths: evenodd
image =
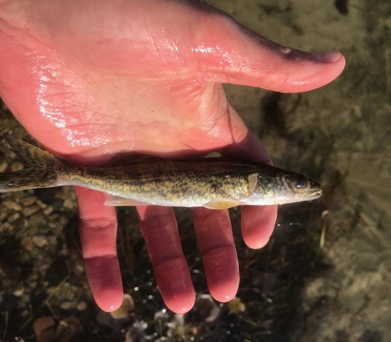
<instances>
[{"instance_id":1,"label":"mottled gold-brown scaly body of the fish between head and tail","mask_svg":"<svg viewBox=\"0 0 391 342\"><path fill-rule=\"evenodd\" d=\"M173 202L192 198L207 203L248 196L248 177L256 172L256 165L214 159L220 158L201 162L156 160L114 168L78 167L66 170L60 177L65 183L88 184L117 196L137 200L148 197L150 203L156 198Z\"/></svg>"}]
</instances>

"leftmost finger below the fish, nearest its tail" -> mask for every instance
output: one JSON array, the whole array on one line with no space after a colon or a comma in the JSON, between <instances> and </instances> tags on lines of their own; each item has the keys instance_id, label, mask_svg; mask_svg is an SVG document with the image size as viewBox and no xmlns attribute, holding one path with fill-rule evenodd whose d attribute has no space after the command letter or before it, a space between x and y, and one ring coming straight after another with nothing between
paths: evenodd
<instances>
[{"instance_id":1,"label":"leftmost finger below the fish, nearest its tail","mask_svg":"<svg viewBox=\"0 0 391 342\"><path fill-rule=\"evenodd\" d=\"M75 186L75 193L81 251L91 292L102 310L114 311L124 298L116 251L115 208L104 205L101 192Z\"/></svg>"}]
</instances>

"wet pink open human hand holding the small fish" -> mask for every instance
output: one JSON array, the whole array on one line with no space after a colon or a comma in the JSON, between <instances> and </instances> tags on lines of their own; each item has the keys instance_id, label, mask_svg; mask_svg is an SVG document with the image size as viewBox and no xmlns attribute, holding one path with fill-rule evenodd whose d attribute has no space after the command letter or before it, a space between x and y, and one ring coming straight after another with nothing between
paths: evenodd
<instances>
[{"instance_id":1,"label":"wet pink open human hand holding the small fish","mask_svg":"<svg viewBox=\"0 0 391 342\"><path fill-rule=\"evenodd\" d=\"M333 81L339 52L311 55L267 42L227 14L177 0L0 0L0 95L48 150L79 163L119 151L160 157L223 155L270 162L225 98L221 83L281 92ZM75 189L91 291L105 311L123 290L116 216L104 195ZM195 291L170 207L137 207L154 273L178 313ZM238 260L227 211L194 209L208 287L219 301L235 296ZM242 234L261 248L277 206L243 207Z\"/></svg>"}]
</instances>

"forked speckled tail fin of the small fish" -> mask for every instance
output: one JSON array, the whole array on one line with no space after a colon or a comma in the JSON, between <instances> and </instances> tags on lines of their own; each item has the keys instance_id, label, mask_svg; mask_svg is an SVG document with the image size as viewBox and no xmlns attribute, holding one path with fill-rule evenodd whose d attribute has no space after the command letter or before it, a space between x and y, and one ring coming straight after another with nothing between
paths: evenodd
<instances>
[{"instance_id":1,"label":"forked speckled tail fin of the small fish","mask_svg":"<svg viewBox=\"0 0 391 342\"><path fill-rule=\"evenodd\" d=\"M59 185L58 157L8 134L5 137L24 168L0 174L0 193Z\"/></svg>"}]
</instances>

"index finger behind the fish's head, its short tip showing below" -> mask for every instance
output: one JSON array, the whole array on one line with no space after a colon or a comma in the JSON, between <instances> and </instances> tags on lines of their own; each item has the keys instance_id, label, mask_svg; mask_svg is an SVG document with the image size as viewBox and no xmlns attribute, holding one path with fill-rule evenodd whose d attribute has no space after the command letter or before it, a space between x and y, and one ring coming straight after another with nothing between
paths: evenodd
<instances>
[{"instance_id":1,"label":"index finger behind the fish's head, its short tip showing below","mask_svg":"<svg viewBox=\"0 0 391 342\"><path fill-rule=\"evenodd\" d=\"M230 110L232 107L230 107ZM220 153L224 156L240 157L272 165L272 161L263 145L243 126L244 138L237 143L225 147ZM236 133L240 135L240 132ZM263 247L273 233L277 220L278 205L242 206L242 236L244 242L253 249Z\"/></svg>"}]
</instances>

